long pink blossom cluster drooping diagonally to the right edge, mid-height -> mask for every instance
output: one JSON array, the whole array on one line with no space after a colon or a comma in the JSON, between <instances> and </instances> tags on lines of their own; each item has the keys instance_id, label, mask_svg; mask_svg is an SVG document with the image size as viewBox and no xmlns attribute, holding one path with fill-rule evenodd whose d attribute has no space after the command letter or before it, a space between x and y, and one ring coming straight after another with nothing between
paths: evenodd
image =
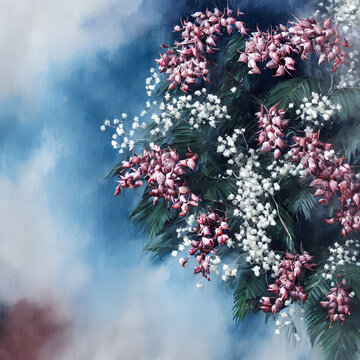
<instances>
[{"instance_id":1,"label":"long pink blossom cluster drooping diagonally to the right edge, mid-height","mask_svg":"<svg viewBox=\"0 0 360 360\"><path fill-rule=\"evenodd\" d=\"M360 229L360 182L343 157L328 155L332 145L319 138L320 131L308 131L305 137L295 136L292 161L300 161L313 177L311 186L316 188L315 196L322 197L319 203L329 205L337 193L341 194L341 209L335 212L334 218L326 221L330 224L339 221L345 237L352 230Z\"/></svg>"}]
</instances>

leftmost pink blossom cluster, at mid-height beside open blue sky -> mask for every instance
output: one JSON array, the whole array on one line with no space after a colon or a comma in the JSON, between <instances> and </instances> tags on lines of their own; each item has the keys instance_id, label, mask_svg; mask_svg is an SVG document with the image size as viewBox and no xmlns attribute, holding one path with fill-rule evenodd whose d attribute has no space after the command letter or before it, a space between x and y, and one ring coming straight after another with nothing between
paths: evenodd
<instances>
[{"instance_id":1,"label":"leftmost pink blossom cluster, at mid-height beside open blue sky","mask_svg":"<svg viewBox=\"0 0 360 360\"><path fill-rule=\"evenodd\" d=\"M186 159L179 160L177 151L161 149L154 145L151 153L144 150L140 156L133 154L127 161L122 162L118 172L121 180L115 189L115 195L120 194L121 189L135 189L143 184L144 177L147 178L148 186L151 188L149 195L154 197L154 204L163 198L171 202L172 209L180 209L180 216L189 212L190 206L198 206L199 198L193 194L182 182L181 176L187 172L185 168L194 170L198 155L189 150Z\"/></svg>"}]
</instances>

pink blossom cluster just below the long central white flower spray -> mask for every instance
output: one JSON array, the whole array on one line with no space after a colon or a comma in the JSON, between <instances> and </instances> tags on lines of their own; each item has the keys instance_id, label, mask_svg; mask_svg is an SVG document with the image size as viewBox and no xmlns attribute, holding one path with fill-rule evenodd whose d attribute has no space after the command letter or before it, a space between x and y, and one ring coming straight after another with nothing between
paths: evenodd
<instances>
[{"instance_id":1,"label":"pink blossom cluster just below the long central white flower spray","mask_svg":"<svg viewBox=\"0 0 360 360\"><path fill-rule=\"evenodd\" d=\"M312 260L313 256L305 251L302 252L302 255L285 253L285 257L279 265L279 278L276 279L275 284L270 284L268 287L268 291L276 295L275 302L272 302L270 297L262 297L260 309L276 314L288 299L293 301L299 299L304 304L307 295L299 283L299 277L304 268L313 270L316 265L311 264Z\"/></svg>"}]
</instances>

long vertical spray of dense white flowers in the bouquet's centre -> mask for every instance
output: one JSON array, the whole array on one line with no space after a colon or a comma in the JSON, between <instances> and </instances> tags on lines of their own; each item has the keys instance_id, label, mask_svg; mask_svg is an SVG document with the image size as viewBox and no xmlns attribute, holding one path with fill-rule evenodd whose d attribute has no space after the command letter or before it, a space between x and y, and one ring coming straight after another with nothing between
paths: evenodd
<instances>
[{"instance_id":1,"label":"long vertical spray of dense white flowers in the bouquet's centre","mask_svg":"<svg viewBox=\"0 0 360 360\"><path fill-rule=\"evenodd\" d=\"M253 265L256 276L260 275L261 268L272 270L275 276L280 256L271 250L266 229L276 225L277 211L271 208L269 196L274 195L280 186L260 173L259 155L253 149L249 149L248 156L238 151L235 143L240 134L243 132L235 129L233 136L220 137L217 149L229 158L229 164L234 165L234 170L227 170L229 176L235 177L237 186L237 192L228 196L233 207L232 216L241 221L234 236L248 253L246 261Z\"/></svg>"}]
</instances>

